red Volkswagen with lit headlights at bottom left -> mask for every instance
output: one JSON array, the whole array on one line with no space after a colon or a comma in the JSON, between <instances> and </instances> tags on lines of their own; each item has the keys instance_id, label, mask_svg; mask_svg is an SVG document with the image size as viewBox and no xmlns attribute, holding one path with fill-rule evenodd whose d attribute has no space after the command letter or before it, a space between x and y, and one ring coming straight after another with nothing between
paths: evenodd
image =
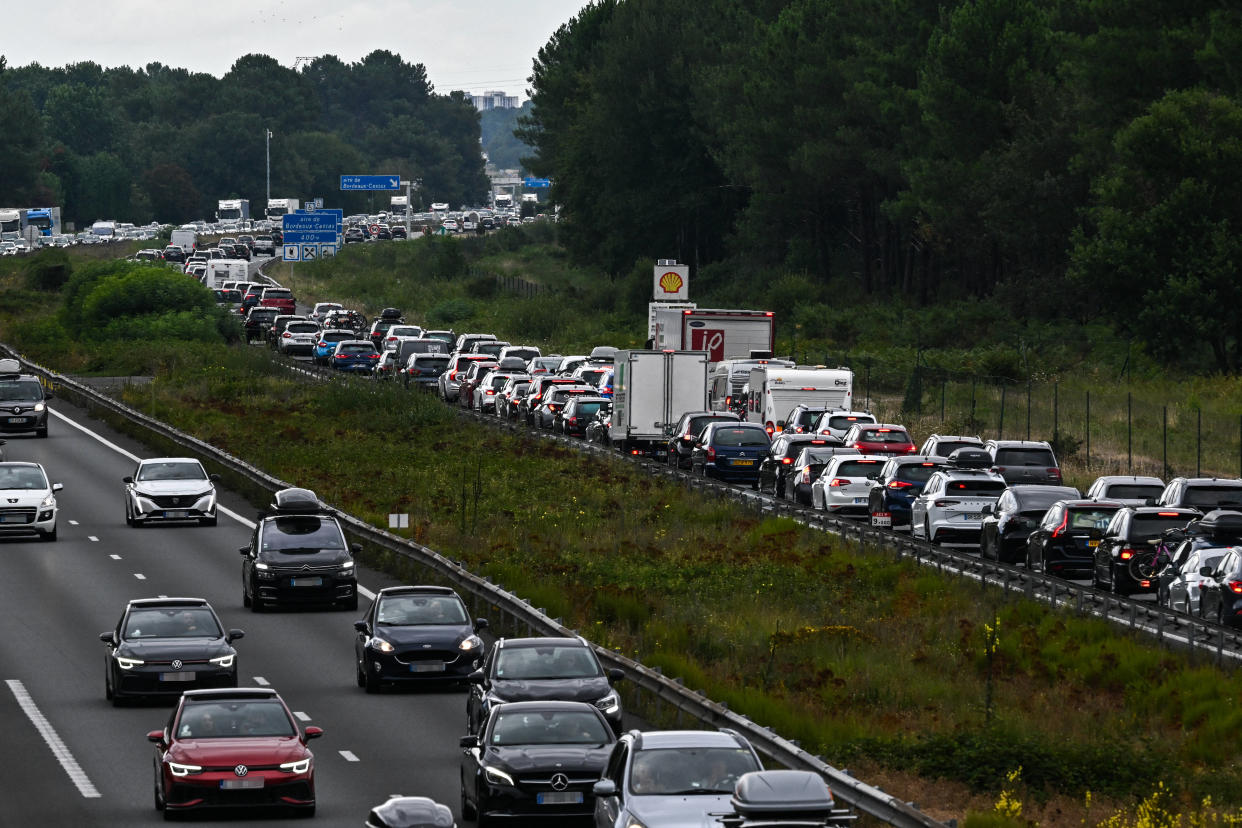
<instances>
[{"instance_id":1,"label":"red Volkswagen with lit headlights at bottom left","mask_svg":"<svg viewBox=\"0 0 1242 828\"><path fill-rule=\"evenodd\" d=\"M298 727L270 688L188 690L155 744L155 809L165 817L200 808L292 808L314 813L319 727Z\"/></svg>"}]
</instances>

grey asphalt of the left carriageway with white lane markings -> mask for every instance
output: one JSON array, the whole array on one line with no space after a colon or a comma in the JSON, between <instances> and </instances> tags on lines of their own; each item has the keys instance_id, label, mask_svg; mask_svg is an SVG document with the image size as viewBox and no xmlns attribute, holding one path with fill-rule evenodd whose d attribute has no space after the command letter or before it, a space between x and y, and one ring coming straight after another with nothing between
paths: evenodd
<instances>
[{"instance_id":1,"label":"grey asphalt of the left carriageway with white lane markings","mask_svg":"<svg viewBox=\"0 0 1242 828\"><path fill-rule=\"evenodd\" d=\"M430 796L457 813L465 693L364 695L353 668L360 612L242 608L237 549L253 506L222 490L217 526L129 529L120 478L153 452L65 401L53 407L48 439L9 437L5 447L6 459L43 463L65 490L58 541L0 539L0 827L163 821L147 732L164 725L170 706L113 708L99 642L125 601L161 595L211 601L226 627L246 631L240 683L276 688L304 724L324 729L310 745L322 824L361 824L392 793ZM364 605L394 583L365 567L358 575Z\"/></svg>"}]
</instances>

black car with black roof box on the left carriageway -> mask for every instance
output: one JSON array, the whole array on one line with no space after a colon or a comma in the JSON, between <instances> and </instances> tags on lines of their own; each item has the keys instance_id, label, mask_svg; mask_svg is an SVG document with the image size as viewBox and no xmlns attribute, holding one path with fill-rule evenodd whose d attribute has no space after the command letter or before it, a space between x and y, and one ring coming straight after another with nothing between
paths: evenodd
<instances>
[{"instance_id":1,"label":"black car with black roof box on the left carriageway","mask_svg":"<svg viewBox=\"0 0 1242 828\"><path fill-rule=\"evenodd\" d=\"M332 605L358 608L358 576L337 518L309 489L282 489L271 510L261 511L242 555L242 605Z\"/></svg>"}]
</instances>

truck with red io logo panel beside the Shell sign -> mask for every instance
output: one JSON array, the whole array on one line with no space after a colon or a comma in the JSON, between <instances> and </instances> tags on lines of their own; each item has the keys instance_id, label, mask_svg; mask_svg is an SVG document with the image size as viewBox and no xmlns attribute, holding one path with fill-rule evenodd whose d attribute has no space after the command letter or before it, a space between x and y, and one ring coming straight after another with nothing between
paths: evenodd
<instances>
[{"instance_id":1,"label":"truck with red io logo panel beside the Shell sign","mask_svg":"<svg viewBox=\"0 0 1242 828\"><path fill-rule=\"evenodd\" d=\"M771 354L776 345L771 310L656 307L650 313L655 349L707 351L710 362L719 362L751 351Z\"/></svg>"}]
</instances>

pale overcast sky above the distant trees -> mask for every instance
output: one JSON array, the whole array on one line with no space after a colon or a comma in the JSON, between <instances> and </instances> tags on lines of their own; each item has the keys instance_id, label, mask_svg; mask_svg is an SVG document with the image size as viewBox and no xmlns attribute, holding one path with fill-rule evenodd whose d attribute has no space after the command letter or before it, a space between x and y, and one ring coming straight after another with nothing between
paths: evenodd
<instances>
[{"instance_id":1,"label":"pale overcast sky above the distant trees","mask_svg":"<svg viewBox=\"0 0 1242 828\"><path fill-rule=\"evenodd\" d=\"M242 55L284 66L376 48L422 63L436 92L503 89L525 97L530 62L586 0L57 0L6 2L9 66L142 68L152 62L229 71Z\"/></svg>"}]
</instances>

